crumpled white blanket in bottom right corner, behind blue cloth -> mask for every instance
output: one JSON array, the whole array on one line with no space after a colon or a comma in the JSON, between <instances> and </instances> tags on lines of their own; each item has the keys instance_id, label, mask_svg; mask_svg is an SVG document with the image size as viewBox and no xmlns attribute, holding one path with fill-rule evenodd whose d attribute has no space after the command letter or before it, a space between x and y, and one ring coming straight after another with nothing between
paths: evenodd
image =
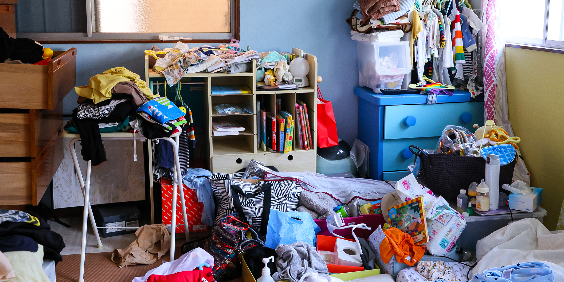
<instances>
[{"instance_id":1,"label":"crumpled white blanket in bottom right corner, behind blue cloth","mask_svg":"<svg viewBox=\"0 0 564 282\"><path fill-rule=\"evenodd\" d=\"M492 267L536 261L547 263L556 281L564 281L564 231L549 231L535 218L521 219L479 240L476 257L474 274Z\"/></svg>"}]
</instances>

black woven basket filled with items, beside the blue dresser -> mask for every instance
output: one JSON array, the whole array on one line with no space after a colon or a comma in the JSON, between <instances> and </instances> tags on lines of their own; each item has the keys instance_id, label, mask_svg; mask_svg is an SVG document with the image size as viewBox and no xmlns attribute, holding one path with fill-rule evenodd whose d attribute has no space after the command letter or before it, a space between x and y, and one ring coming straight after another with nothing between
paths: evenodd
<instances>
[{"instance_id":1,"label":"black woven basket filled with items, beside the blue dresser","mask_svg":"<svg viewBox=\"0 0 564 282\"><path fill-rule=\"evenodd\" d=\"M455 200L460 190L468 190L470 183L480 183L486 176L486 160L482 157L448 154L427 154L417 146L409 151L421 158L422 177L429 190L445 200ZM517 157L509 164L500 166L499 188L511 184Z\"/></svg>"}]
</instances>

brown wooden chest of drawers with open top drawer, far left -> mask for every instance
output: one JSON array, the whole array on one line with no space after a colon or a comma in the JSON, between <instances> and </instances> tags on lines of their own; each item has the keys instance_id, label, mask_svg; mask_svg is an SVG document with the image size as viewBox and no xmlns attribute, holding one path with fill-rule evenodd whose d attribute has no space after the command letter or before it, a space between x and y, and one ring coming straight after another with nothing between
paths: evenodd
<instances>
[{"instance_id":1,"label":"brown wooden chest of drawers with open top drawer, far left","mask_svg":"<svg viewBox=\"0 0 564 282\"><path fill-rule=\"evenodd\" d=\"M63 98L76 49L49 65L0 64L0 205L37 205L63 160Z\"/></svg>"}]
</instances>

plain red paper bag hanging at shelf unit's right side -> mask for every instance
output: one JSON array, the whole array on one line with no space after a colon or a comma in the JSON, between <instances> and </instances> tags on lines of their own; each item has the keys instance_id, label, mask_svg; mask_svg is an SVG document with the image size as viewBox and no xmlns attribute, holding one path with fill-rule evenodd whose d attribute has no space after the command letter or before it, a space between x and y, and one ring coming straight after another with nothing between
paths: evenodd
<instances>
[{"instance_id":1,"label":"plain red paper bag hanging at shelf unit's right side","mask_svg":"<svg viewBox=\"0 0 564 282\"><path fill-rule=\"evenodd\" d=\"M333 105L331 104L331 101L323 99L319 86L318 99L318 147L327 148L336 146L339 142L337 137L337 122L335 122L335 114L333 113Z\"/></svg>"}]
</instances>

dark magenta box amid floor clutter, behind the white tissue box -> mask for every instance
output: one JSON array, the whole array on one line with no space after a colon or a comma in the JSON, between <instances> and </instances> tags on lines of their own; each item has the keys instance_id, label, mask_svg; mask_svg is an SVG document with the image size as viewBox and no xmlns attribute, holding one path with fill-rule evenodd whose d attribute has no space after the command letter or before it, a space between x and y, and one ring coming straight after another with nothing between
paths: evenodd
<instances>
[{"instance_id":1,"label":"dark magenta box amid floor clutter, behind the white tissue box","mask_svg":"<svg viewBox=\"0 0 564 282\"><path fill-rule=\"evenodd\" d=\"M374 232L374 230L376 230L376 228L378 228L378 226L382 226L385 223L384 216L381 214L361 214L360 217L343 218L343 221L345 221L345 225L364 223L366 226L370 227L370 230L360 228L355 229L356 236L364 238L365 240L368 240L368 237L372 234L372 232ZM315 219L315 223L318 224L319 228L321 228L321 231L317 233L318 235L333 236L333 234L327 230L327 221L325 221L325 219ZM352 237L351 228L335 230L335 233L347 239L354 239L354 237ZM333 252L333 249L331 249L331 252Z\"/></svg>"}]
</instances>

